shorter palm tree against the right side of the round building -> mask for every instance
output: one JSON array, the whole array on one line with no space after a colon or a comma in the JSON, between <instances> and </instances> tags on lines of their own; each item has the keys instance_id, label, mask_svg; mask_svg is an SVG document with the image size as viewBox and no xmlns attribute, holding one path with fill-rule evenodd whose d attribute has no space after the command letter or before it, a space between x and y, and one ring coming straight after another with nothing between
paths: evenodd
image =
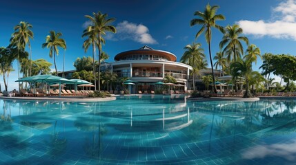
<instances>
[{"instance_id":1,"label":"shorter palm tree against the right side of the round building","mask_svg":"<svg viewBox=\"0 0 296 165\"><path fill-rule=\"evenodd\" d=\"M181 57L181 63L185 63L193 67L193 90L195 91L195 76L199 72L199 63L206 57L204 55L204 49L201 48L200 43L193 43L192 45L186 45L186 50Z\"/></svg>"}]
</instances>

